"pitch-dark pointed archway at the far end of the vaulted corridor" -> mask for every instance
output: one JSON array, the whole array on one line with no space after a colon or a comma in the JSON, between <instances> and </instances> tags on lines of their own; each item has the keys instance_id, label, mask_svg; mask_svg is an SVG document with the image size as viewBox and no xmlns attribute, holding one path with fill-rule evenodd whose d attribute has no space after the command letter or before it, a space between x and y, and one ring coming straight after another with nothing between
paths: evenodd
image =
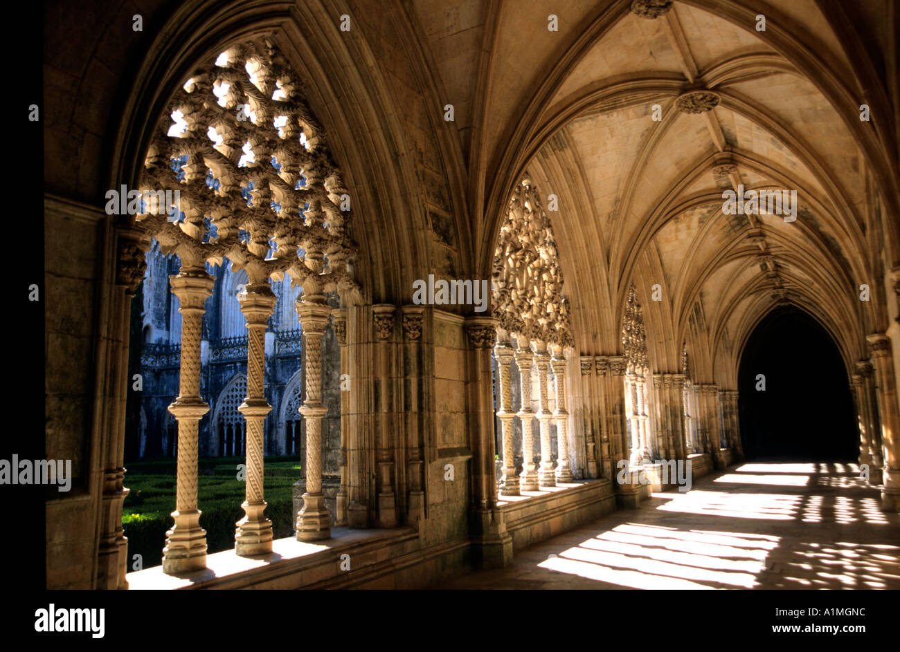
<instances>
[{"instance_id":1,"label":"pitch-dark pointed archway at the far end of the vaulted corridor","mask_svg":"<svg viewBox=\"0 0 900 652\"><path fill-rule=\"evenodd\" d=\"M765 390L759 374L765 377ZM738 371L748 459L851 461L858 433L837 346L805 311L776 308L747 340Z\"/></svg>"}]
</instances>

